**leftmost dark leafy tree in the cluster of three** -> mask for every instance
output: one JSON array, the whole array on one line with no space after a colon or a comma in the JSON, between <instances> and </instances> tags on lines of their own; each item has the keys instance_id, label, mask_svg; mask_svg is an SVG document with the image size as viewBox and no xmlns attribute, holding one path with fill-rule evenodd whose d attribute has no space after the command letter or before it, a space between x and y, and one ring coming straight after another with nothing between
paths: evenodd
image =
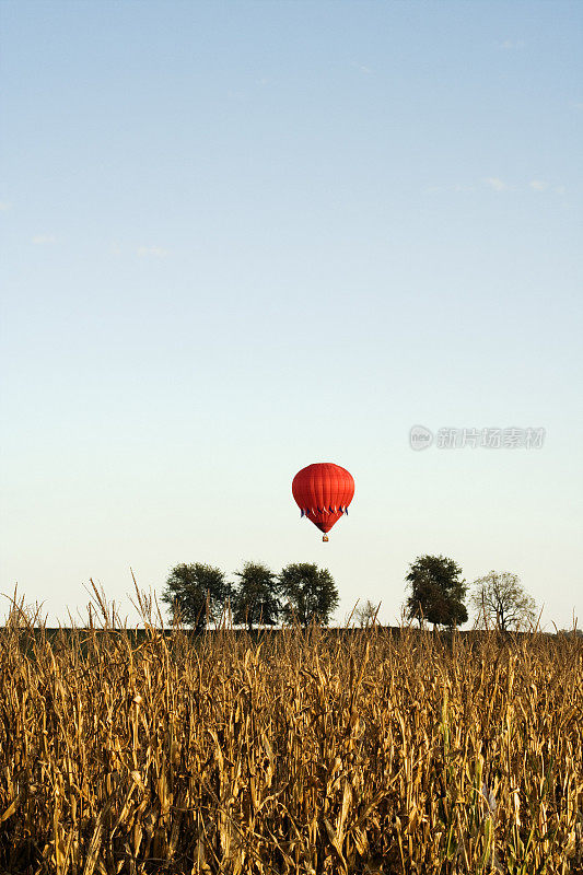
<instances>
[{"instance_id":1,"label":"leftmost dark leafy tree in the cluster of three","mask_svg":"<svg viewBox=\"0 0 583 875\"><path fill-rule=\"evenodd\" d=\"M172 569L162 602L172 608L174 615L179 614L184 622L201 632L207 619L219 619L228 595L229 584L219 568L201 562L182 563Z\"/></svg>"}]
</instances>

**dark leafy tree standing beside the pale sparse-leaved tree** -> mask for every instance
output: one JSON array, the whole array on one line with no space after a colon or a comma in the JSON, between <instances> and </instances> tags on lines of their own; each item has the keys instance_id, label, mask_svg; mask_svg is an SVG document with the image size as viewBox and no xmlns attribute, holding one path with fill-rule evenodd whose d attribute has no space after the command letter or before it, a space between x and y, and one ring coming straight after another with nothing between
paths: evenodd
<instances>
[{"instance_id":1,"label":"dark leafy tree standing beside the pale sparse-leaved tree","mask_svg":"<svg viewBox=\"0 0 583 875\"><path fill-rule=\"evenodd\" d=\"M408 617L450 628L466 622L464 598L468 587L460 574L462 569L453 559L418 556L406 576L411 591L406 603Z\"/></svg>"}]
</instances>

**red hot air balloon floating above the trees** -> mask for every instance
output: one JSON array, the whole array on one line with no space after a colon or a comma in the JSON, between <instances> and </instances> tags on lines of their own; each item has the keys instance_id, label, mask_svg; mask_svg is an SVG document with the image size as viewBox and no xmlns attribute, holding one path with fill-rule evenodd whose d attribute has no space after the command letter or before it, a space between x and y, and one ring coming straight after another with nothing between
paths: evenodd
<instances>
[{"instance_id":1,"label":"red hot air balloon floating above the trees","mask_svg":"<svg viewBox=\"0 0 583 875\"><path fill-rule=\"evenodd\" d=\"M346 468L331 462L316 462L298 471L292 482L293 498L302 516L307 516L324 532L322 540L335 523L348 513L354 495L354 480Z\"/></svg>"}]
</instances>

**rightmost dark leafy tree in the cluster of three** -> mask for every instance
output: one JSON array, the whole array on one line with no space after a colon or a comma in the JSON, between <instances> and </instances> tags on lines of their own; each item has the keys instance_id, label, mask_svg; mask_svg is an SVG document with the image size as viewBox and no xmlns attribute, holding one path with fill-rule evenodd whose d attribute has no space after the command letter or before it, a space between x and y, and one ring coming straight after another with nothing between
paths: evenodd
<instances>
[{"instance_id":1,"label":"rightmost dark leafy tree in the cluster of three","mask_svg":"<svg viewBox=\"0 0 583 875\"><path fill-rule=\"evenodd\" d=\"M338 590L330 572L318 569L315 562L287 565L279 575L280 593L285 604L282 615L285 622L294 619L301 626L314 620L326 626L338 606Z\"/></svg>"}]
</instances>

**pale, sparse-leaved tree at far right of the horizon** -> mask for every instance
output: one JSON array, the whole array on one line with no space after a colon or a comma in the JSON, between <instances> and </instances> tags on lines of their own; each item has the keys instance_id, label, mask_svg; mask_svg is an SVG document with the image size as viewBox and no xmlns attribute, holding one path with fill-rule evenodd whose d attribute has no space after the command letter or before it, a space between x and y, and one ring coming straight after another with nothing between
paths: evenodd
<instances>
[{"instance_id":1,"label":"pale, sparse-leaved tree at far right of the horizon","mask_svg":"<svg viewBox=\"0 0 583 875\"><path fill-rule=\"evenodd\" d=\"M490 571L474 581L471 604L479 620L501 632L530 626L536 618L536 603L524 590L516 574Z\"/></svg>"}]
</instances>

